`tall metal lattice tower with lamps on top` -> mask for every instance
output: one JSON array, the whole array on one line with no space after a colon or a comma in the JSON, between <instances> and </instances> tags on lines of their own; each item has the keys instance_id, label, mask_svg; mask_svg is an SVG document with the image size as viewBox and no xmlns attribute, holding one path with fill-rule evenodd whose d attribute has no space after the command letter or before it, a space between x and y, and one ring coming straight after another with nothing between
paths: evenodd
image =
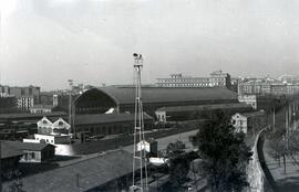
<instances>
[{"instance_id":1,"label":"tall metal lattice tower with lamps on top","mask_svg":"<svg viewBox=\"0 0 299 192\"><path fill-rule=\"evenodd\" d=\"M144 137L143 106L142 106L142 84L141 70L143 67L143 57L134 53L135 68L135 121L134 121L134 151L133 151L133 185L131 191L147 191L147 168L146 168L146 141ZM136 161L138 161L136 163ZM135 172L135 167L138 167ZM136 174L140 172L140 174ZM138 179L137 179L138 177ZM136 182L135 180L140 182Z\"/></svg>"}]
</instances>

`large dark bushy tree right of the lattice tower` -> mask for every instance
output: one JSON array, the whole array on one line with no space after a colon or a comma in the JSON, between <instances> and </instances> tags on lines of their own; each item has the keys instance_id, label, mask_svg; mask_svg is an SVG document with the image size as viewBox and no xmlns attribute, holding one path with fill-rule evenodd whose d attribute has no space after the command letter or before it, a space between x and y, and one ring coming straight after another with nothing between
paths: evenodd
<instances>
[{"instance_id":1,"label":"large dark bushy tree right of the lattice tower","mask_svg":"<svg viewBox=\"0 0 299 192\"><path fill-rule=\"evenodd\" d=\"M245 135L236 132L230 119L221 110L210 115L195 139L202 161L202 174L214 192L241 191L248 185L246 167L251 152L246 146Z\"/></svg>"}]
</instances>

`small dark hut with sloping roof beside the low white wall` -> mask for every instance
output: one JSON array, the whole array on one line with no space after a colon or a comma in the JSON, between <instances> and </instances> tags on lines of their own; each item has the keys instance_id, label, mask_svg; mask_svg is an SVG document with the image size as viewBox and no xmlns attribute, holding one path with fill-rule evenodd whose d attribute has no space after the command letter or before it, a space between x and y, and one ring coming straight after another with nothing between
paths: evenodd
<instances>
[{"instance_id":1,"label":"small dark hut with sloping roof beside the low white wall","mask_svg":"<svg viewBox=\"0 0 299 192\"><path fill-rule=\"evenodd\" d=\"M22 151L20 162L44 162L54 158L55 147L49 143L3 141Z\"/></svg>"}]
</instances>

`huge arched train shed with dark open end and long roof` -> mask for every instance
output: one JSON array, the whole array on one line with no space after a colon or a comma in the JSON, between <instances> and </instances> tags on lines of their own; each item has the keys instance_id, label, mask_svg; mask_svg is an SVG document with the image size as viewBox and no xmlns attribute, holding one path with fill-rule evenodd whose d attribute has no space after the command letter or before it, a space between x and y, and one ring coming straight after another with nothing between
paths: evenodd
<instances>
[{"instance_id":1,"label":"huge arched train shed with dark open end and long roof","mask_svg":"<svg viewBox=\"0 0 299 192\"><path fill-rule=\"evenodd\" d=\"M161 107L237 103L237 93L223 87L143 87L143 108L150 115ZM74 99L75 114L102 114L111 108L134 113L135 87L92 88Z\"/></svg>"}]
</instances>

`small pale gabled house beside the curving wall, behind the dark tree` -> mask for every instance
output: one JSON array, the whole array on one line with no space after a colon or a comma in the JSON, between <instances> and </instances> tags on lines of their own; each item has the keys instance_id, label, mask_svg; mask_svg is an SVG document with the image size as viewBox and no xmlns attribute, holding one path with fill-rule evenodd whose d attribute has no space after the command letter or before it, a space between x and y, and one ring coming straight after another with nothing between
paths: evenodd
<instances>
[{"instance_id":1,"label":"small pale gabled house beside the curving wall, behind the dark tree","mask_svg":"<svg viewBox=\"0 0 299 192\"><path fill-rule=\"evenodd\" d=\"M237 113L231 117L231 124L236 131L256 135L258 130L266 126L267 118L265 111Z\"/></svg>"}]
</instances>

